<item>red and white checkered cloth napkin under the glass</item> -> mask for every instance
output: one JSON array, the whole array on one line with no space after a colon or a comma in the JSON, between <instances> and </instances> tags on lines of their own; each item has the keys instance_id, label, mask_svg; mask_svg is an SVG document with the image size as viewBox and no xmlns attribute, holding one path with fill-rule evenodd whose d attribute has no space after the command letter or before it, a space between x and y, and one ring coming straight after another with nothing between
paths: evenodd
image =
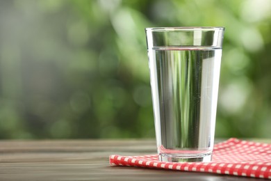
<instances>
[{"instance_id":1,"label":"red and white checkered cloth napkin under the glass","mask_svg":"<svg viewBox=\"0 0 271 181\"><path fill-rule=\"evenodd\" d=\"M109 157L111 166L140 166L271 179L271 144L229 139L217 143L212 162L159 162L158 155Z\"/></svg>"}]
</instances>

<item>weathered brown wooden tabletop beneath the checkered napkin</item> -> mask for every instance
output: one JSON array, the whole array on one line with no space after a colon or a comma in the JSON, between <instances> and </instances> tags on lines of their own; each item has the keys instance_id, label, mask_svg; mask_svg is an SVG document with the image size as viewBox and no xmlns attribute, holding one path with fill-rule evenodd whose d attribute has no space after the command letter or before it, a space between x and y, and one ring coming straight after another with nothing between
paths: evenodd
<instances>
[{"instance_id":1,"label":"weathered brown wooden tabletop beneath the checkered napkin","mask_svg":"<svg viewBox=\"0 0 271 181\"><path fill-rule=\"evenodd\" d=\"M108 163L155 152L154 140L0 141L0 180L257 180Z\"/></svg>"}]
</instances>

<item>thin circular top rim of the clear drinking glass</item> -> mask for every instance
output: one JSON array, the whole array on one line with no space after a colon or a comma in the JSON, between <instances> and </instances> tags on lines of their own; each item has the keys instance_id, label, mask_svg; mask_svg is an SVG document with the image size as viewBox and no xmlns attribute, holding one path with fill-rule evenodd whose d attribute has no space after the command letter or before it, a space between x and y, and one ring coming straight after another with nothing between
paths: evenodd
<instances>
[{"instance_id":1,"label":"thin circular top rim of the clear drinking glass","mask_svg":"<svg viewBox=\"0 0 271 181\"><path fill-rule=\"evenodd\" d=\"M175 26L175 27L151 27L145 28L145 31L195 31L195 30L205 30L205 31L215 31L223 30L223 26Z\"/></svg>"}]
</instances>

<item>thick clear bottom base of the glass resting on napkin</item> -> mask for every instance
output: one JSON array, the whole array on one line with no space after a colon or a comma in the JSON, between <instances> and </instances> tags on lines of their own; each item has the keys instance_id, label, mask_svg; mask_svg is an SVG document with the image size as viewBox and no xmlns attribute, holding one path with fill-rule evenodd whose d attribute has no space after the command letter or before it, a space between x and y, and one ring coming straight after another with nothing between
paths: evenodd
<instances>
[{"instance_id":1,"label":"thick clear bottom base of the glass resting on napkin","mask_svg":"<svg viewBox=\"0 0 271 181\"><path fill-rule=\"evenodd\" d=\"M179 155L179 154L160 154L161 162L211 162L212 154L204 155Z\"/></svg>"}]
</instances>

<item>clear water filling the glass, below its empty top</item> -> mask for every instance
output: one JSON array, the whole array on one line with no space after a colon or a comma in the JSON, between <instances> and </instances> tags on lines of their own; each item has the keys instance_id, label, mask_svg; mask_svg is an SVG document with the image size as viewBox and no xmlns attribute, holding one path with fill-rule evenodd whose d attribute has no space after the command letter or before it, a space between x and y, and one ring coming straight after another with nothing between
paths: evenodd
<instances>
[{"instance_id":1,"label":"clear water filling the glass, below its empty top","mask_svg":"<svg viewBox=\"0 0 271 181\"><path fill-rule=\"evenodd\" d=\"M222 49L149 49L159 155L197 157L213 149Z\"/></svg>"}]
</instances>

